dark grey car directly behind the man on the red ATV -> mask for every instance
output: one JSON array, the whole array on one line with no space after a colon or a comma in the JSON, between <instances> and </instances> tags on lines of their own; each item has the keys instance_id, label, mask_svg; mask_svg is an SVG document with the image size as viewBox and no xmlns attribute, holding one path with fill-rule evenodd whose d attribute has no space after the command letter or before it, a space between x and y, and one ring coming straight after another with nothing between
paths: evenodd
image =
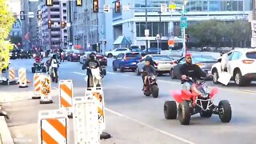
<instances>
[{"instance_id":1,"label":"dark grey car directly behind the man on the red ATV","mask_svg":"<svg viewBox=\"0 0 256 144\"><path fill-rule=\"evenodd\" d=\"M192 62L198 66L208 75L211 75L211 66L214 65L214 63L218 62L217 59L210 55L194 55L192 56ZM181 74L179 71L179 68L182 66L182 64L185 63L185 57L182 57L178 59L175 62L177 65L173 66L170 69L170 77L171 78L180 78Z\"/></svg>"}]
</instances>

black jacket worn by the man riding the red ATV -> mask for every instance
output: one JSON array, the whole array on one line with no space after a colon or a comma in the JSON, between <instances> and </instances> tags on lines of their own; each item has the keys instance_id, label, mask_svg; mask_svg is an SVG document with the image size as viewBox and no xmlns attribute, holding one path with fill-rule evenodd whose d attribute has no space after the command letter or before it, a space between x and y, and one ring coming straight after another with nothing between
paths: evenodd
<instances>
[{"instance_id":1,"label":"black jacket worn by the man riding the red ATV","mask_svg":"<svg viewBox=\"0 0 256 144\"><path fill-rule=\"evenodd\" d=\"M187 77L191 77L194 80L200 79L200 78L206 78L206 73L204 73L201 68L198 65L195 64L187 64L184 63L180 69L179 73L181 75L186 75ZM182 83L186 81L182 80Z\"/></svg>"}]
</instances>

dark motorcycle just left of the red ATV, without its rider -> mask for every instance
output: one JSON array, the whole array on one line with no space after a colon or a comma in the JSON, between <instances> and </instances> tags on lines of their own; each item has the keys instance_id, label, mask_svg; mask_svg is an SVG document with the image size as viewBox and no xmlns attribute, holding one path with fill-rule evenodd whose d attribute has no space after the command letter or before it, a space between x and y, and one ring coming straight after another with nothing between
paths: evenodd
<instances>
[{"instance_id":1,"label":"dark motorcycle just left of the red ATV, without its rider","mask_svg":"<svg viewBox=\"0 0 256 144\"><path fill-rule=\"evenodd\" d=\"M152 94L153 98L158 98L159 88L157 78L154 74L148 74L146 71L142 71L143 76L148 75L146 80L146 86L143 86L143 93L146 96Z\"/></svg>"}]
</instances>

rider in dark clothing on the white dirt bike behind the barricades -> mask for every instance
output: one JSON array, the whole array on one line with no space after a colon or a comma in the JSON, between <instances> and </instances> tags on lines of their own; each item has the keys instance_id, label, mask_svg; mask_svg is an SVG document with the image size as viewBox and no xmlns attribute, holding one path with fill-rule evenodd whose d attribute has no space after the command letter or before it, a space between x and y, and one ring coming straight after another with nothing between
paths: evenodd
<instances>
[{"instance_id":1,"label":"rider in dark clothing on the white dirt bike behind the barricades","mask_svg":"<svg viewBox=\"0 0 256 144\"><path fill-rule=\"evenodd\" d=\"M90 87L90 81L92 82L92 80L90 79L90 77L92 77L91 70L90 70L92 67L100 68L100 64L99 64L98 60L96 59L95 53L90 53L90 59L88 59L85 63L85 66L83 66L83 69L86 68L87 87Z\"/></svg>"}]
</instances>

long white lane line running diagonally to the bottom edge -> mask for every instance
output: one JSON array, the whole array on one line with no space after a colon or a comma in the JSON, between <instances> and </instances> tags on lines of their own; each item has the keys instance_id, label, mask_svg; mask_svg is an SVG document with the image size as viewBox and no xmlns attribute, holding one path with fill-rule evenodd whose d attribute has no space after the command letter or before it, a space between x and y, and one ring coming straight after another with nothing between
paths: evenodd
<instances>
[{"instance_id":1,"label":"long white lane line running diagonally to the bottom edge","mask_svg":"<svg viewBox=\"0 0 256 144\"><path fill-rule=\"evenodd\" d=\"M180 137L178 137L178 136L176 136L176 135L174 135L174 134L170 134L170 133L168 133L168 132L166 132L166 131L164 131L164 130L160 130L160 129L158 129L158 128L155 128L154 126L147 125L146 123L139 122L138 120L136 120L136 119L134 119L134 118L130 118L130 117L128 117L128 116L126 116L126 115L124 115L124 114L120 114L120 113L118 113L118 112L116 112L116 111L114 111L114 110L107 109L106 107L105 107L105 110L106 110L106 111L109 111L109 112L112 113L112 114L116 114L116 115L118 115L118 116L120 116L120 117L122 117L122 118L126 118L126 119L129 119L130 121L136 122L136 123L138 123L138 124L140 124L140 125L142 125L142 126L146 126L147 128L150 128L150 129L152 129L152 130L158 131L159 133L166 134L166 135L170 136L171 138L176 138L176 139L178 139L178 140L180 140L180 141L182 141L182 142L194 144L194 142L190 142L190 141L188 141L188 140L186 140L186 139L184 139L184 138L180 138Z\"/></svg>"}]
</instances>

